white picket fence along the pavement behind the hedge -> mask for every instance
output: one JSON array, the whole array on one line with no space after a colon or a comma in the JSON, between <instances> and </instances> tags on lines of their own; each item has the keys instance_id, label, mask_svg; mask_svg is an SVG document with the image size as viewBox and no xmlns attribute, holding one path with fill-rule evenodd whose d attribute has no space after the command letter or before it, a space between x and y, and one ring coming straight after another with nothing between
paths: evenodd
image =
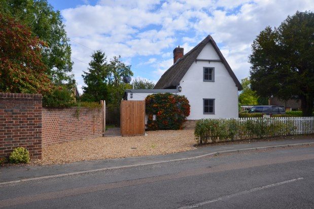
<instances>
[{"instance_id":1,"label":"white picket fence along the pavement behind the hedge","mask_svg":"<svg viewBox=\"0 0 314 209\"><path fill-rule=\"evenodd\" d=\"M314 117L264 117L271 123L282 121L285 124L293 123L294 130L290 135L297 134L313 134L314 133ZM257 121L258 117L238 118L239 121L245 122L247 120Z\"/></svg>"}]
</instances>

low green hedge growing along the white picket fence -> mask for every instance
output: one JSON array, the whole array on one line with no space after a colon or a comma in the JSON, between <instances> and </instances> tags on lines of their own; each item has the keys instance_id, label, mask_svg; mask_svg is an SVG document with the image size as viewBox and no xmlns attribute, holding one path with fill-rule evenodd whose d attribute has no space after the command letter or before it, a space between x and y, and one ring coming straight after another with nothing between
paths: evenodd
<instances>
[{"instance_id":1,"label":"low green hedge growing along the white picket fence","mask_svg":"<svg viewBox=\"0 0 314 209\"><path fill-rule=\"evenodd\" d=\"M238 119L201 119L196 122L194 135L199 144L211 141L224 142L235 139L285 136L295 130L293 121L276 118L257 118L240 121Z\"/></svg>"}]
</instances>

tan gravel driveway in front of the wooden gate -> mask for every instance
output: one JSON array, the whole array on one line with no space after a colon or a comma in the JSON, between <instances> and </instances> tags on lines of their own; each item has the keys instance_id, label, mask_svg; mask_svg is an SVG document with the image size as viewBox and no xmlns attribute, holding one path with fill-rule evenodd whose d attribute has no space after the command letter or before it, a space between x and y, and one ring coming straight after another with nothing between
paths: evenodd
<instances>
[{"instance_id":1,"label":"tan gravel driveway in front of the wooden gate","mask_svg":"<svg viewBox=\"0 0 314 209\"><path fill-rule=\"evenodd\" d=\"M99 137L54 144L43 148L34 164L63 164L82 160L158 155L195 149L193 130L149 131L147 136Z\"/></svg>"}]
</instances>

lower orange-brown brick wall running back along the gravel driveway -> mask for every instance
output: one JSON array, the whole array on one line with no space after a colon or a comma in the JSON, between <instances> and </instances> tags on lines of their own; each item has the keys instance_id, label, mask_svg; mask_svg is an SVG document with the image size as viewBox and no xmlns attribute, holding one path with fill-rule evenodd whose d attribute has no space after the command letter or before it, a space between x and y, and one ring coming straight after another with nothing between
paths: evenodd
<instances>
[{"instance_id":1,"label":"lower orange-brown brick wall running back along the gravel driveway","mask_svg":"<svg viewBox=\"0 0 314 209\"><path fill-rule=\"evenodd\" d=\"M43 146L100 136L101 108L43 108Z\"/></svg>"}]
</instances>

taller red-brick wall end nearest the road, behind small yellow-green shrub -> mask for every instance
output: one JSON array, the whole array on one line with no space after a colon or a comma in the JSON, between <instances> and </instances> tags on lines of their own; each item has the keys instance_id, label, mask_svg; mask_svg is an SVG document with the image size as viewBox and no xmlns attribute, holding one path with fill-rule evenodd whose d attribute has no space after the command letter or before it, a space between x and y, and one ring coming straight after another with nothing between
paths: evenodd
<instances>
[{"instance_id":1,"label":"taller red-brick wall end nearest the road, behind small yellow-green shrub","mask_svg":"<svg viewBox=\"0 0 314 209\"><path fill-rule=\"evenodd\" d=\"M42 156L42 95L0 93L0 157L15 147Z\"/></svg>"}]
</instances>

